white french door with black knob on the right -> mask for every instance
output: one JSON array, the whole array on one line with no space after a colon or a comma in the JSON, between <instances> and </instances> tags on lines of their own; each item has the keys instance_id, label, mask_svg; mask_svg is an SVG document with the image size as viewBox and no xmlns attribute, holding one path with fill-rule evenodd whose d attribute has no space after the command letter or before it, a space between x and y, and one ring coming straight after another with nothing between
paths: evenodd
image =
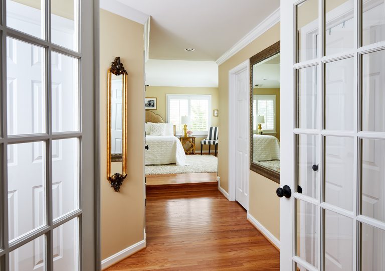
<instances>
[{"instance_id":1,"label":"white french door with black knob on the right","mask_svg":"<svg viewBox=\"0 0 385 271\"><path fill-rule=\"evenodd\" d=\"M281 0L281 270L385 270L384 105L385 2Z\"/></svg>"}]
</instances>

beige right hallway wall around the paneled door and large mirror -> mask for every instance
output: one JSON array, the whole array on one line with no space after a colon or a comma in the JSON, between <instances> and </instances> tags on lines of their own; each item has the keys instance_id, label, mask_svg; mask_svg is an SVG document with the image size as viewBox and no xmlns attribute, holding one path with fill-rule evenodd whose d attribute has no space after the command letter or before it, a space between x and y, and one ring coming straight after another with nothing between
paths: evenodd
<instances>
[{"instance_id":1,"label":"beige right hallway wall around the paneled door and large mirror","mask_svg":"<svg viewBox=\"0 0 385 271\"><path fill-rule=\"evenodd\" d=\"M229 70L276 43L279 39L280 25L278 23L219 66L219 112L221 116L219 126L222 131L229 130ZM221 144L223 148L218 158L218 176L221 178L221 187L228 192L228 132L221 133ZM278 187L279 184L250 171L250 214L277 238L279 238L279 198L276 196L275 190Z\"/></svg>"}]
</instances>

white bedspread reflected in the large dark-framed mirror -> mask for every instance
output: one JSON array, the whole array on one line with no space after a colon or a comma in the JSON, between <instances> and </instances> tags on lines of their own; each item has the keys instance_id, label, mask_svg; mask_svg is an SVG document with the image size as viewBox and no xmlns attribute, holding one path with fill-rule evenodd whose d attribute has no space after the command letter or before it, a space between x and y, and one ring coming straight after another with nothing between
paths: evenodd
<instances>
[{"instance_id":1,"label":"white bedspread reflected in the large dark-framed mirror","mask_svg":"<svg viewBox=\"0 0 385 271\"><path fill-rule=\"evenodd\" d=\"M272 135L253 134L253 161L280 160L279 140Z\"/></svg>"}]
</instances>

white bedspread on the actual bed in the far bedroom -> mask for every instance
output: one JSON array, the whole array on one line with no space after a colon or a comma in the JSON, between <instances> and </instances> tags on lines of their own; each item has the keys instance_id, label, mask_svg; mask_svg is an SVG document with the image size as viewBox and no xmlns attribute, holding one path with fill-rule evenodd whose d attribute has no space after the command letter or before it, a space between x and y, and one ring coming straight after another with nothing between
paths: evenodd
<instances>
[{"instance_id":1,"label":"white bedspread on the actual bed in the far bedroom","mask_svg":"<svg viewBox=\"0 0 385 271\"><path fill-rule=\"evenodd\" d=\"M161 137L146 135L146 145L148 145L148 150L144 150L146 165L186 165L186 155L182 144L173 135Z\"/></svg>"}]
</instances>

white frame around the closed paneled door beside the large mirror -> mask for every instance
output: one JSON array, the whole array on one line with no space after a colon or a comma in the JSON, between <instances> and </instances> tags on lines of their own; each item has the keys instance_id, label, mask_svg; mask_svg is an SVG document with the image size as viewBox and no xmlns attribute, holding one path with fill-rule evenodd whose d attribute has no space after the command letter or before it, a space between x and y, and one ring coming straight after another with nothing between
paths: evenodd
<instances>
[{"instance_id":1,"label":"white frame around the closed paneled door beside the large mirror","mask_svg":"<svg viewBox=\"0 0 385 271\"><path fill-rule=\"evenodd\" d=\"M247 59L238 66L234 67L229 71L229 193L227 195L228 199L230 201L235 201L235 191L236 191L236 145L232 144L236 140L236 125L235 122L237 120L236 118L236 75L243 71L250 71L250 60ZM249 75L250 80L250 75ZM250 101L248 102L250 104ZM248 110L249 112L249 110ZM247 119L249 119L249 115L245 116ZM249 137L250 134L247 133L247 137ZM248 150L248 156L250 156L250 148L249 148L249 141L248 146L246 147ZM250 174L246 174L247 176L247 185L249 185L249 179ZM221 187L219 187L222 189ZM223 190L223 189L222 189ZM223 191L222 191L223 192ZM225 194L226 196L226 194ZM250 202L250 195L247 195L247 208L246 211L249 212L249 202Z\"/></svg>"}]
</instances>

